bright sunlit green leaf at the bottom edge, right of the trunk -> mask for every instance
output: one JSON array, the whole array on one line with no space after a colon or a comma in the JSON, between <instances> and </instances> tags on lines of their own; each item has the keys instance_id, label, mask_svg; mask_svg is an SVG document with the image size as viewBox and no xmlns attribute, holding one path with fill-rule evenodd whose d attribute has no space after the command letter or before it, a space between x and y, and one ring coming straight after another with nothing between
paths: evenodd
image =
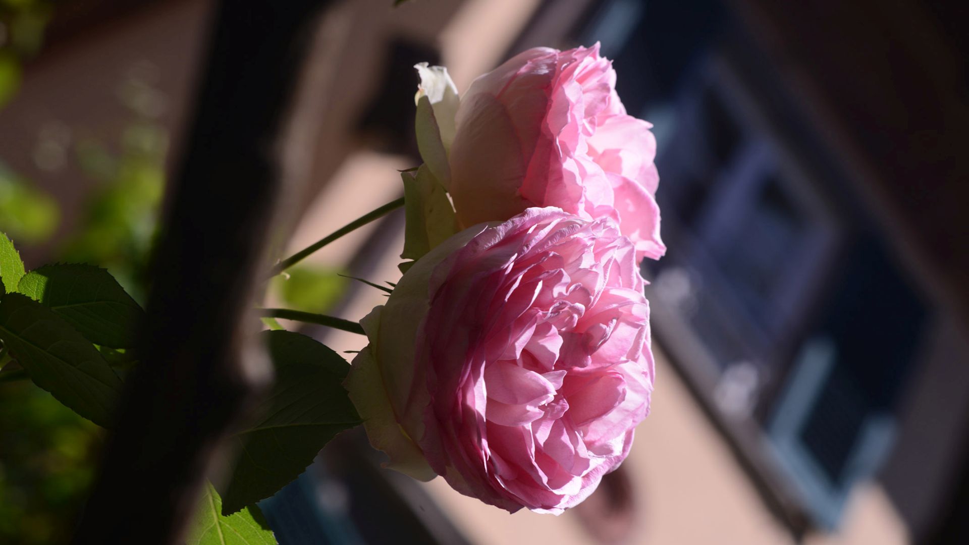
<instances>
[{"instance_id":1,"label":"bright sunlit green leaf at the bottom edge, right of the trunk","mask_svg":"<svg viewBox=\"0 0 969 545\"><path fill-rule=\"evenodd\" d=\"M231 516L222 515L222 498L211 483L199 502L188 545L275 545L276 538L256 505Z\"/></svg>"}]
</instances>

